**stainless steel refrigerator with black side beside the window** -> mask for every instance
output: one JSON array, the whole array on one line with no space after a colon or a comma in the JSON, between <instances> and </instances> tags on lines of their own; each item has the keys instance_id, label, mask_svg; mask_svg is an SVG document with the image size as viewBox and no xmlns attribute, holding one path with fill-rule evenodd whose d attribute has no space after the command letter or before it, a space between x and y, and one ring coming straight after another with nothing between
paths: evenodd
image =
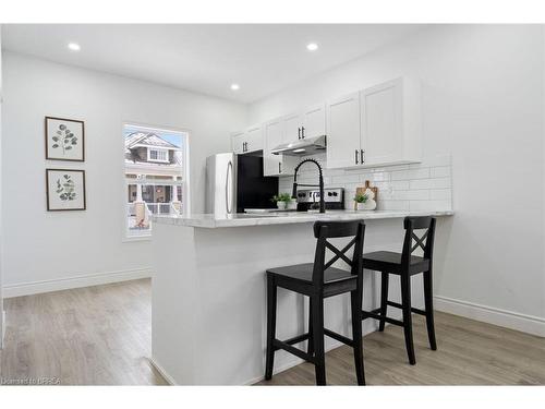
<instances>
[{"instance_id":1,"label":"stainless steel refrigerator with black side beside the window","mask_svg":"<svg viewBox=\"0 0 545 409\"><path fill-rule=\"evenodd\" d=\"M206 213L226 215L246 208L274 208L278 178L263 176L263 157L216 154L206 159Z\"/></svg>"}]
</instances>

